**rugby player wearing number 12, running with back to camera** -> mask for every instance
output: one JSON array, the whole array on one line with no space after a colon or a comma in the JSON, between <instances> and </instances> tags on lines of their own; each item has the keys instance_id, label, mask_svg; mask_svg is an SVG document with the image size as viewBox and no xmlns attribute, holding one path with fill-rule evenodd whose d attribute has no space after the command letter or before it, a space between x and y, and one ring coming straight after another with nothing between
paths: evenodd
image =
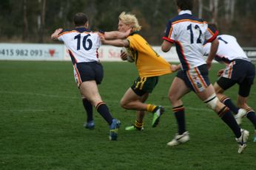
<instances>
[{"instance_id":1,"label":"rugby player wearing number 12, running with back to camera","mask_svg":"<svg viewBox=\"0 0 256 170\"><path fill-rule=\"evenodd\" d=\"M243 152L249 136L247 130L242 130L232 116L228 107L223 105L215 94L215 89L209 82L208 68L218 49L218 31L208 27L206 21L192 15L193 0L175 0L178 15L169 20L166 25L163 52L169 52L175 43L181 71L172 82L169 89L169 100L178 123L178 134L167 145L175 146L189 141L189 132L185 126L185 111L181 98L190 91L201 99L209 108L218 113L218 116L234 132L238 141L238 153ZM206 62L203 58L203 43L212 43L211 51Z\"/></svg>"}]
</instances>

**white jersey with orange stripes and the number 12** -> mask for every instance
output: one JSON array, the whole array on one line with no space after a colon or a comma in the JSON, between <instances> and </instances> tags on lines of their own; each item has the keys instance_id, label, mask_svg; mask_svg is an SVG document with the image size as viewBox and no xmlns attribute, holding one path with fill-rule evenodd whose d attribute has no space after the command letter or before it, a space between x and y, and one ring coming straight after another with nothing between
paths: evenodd
<instances>
[{"instance_id":1,"label":"white jersey with orange stripes and the number 12","mask_svg":"<svg viewBox=\"0 0 256 170\"><path fill-rule=\"evenodd\" d=\"M209 28L206 21L196 18L190 10L182 10L166 25L164 40L175 43L183 70L205 64L203 43L212 42L218 31Z\"/></svg>"}]
</instances>

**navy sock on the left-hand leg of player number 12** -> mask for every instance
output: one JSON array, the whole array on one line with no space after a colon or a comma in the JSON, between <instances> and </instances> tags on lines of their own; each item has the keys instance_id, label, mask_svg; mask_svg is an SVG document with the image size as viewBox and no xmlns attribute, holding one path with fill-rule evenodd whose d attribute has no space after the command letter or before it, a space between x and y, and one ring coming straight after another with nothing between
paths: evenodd
<instances>
[{"instance_id":1,"label":"navy sock on the left-hand leg of player number 12","mask_svg":"<svg viewBox=\"0 0 256 170\"><path fill-rule=\"evenodd\" d=\"M178 124L178 134L181 135L183 134L183 132L186 132L184 107L183 105L178 107L173 107L172 111L175 115L175 118Z\"/></svg>"}]
</instances>

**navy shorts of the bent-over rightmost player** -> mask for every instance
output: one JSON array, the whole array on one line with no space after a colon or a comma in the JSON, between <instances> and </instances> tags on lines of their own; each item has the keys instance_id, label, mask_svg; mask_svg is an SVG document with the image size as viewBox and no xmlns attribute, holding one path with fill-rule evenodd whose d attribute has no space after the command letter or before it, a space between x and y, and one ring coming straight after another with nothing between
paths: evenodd
<instances>
[{"instance_id":1,"label":"navy shorts of the bent-over rightmost player","mask_svg":"<svg viewBox=\"0 0 256 170\"><path fill-rule=\"evenodd\" d=\"M237 59L229 63L217 83L224 91L237 83L239 85L238 94L247 97L254 79L255 65L247 60Z\"/></svg>"}]
</instances>

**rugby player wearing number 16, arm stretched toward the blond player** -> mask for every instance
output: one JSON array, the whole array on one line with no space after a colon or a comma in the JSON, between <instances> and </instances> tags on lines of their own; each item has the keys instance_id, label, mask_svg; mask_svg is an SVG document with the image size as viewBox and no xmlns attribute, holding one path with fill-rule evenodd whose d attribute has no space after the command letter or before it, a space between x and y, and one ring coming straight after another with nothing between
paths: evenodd
<instances>
[{"instance_id":1,"label":"rugby player wearing number 16, arm stretched toward the blond player","mask_svg":"<svg viewBox=\"0 0 256 170\"><path fill-rule=\"evenodd\" d=\"M104 77L104 71L98 60L98 48L101 39L98 32L92 32L89 27L87 15L76 13L74 17L75 29L56 29L51 35L52 40L63 41L73 63L75 82L80 90L83 105L87 111L87 123L84 127L93 129L95 127L92 118L92 106L110 125L110 140L118 138L118 128L121 122L112 118L109 108L102 101L98 93L98 85ZM126 34L115 32L117 38L125 38Z\"/></svg>"}]
</instances>

